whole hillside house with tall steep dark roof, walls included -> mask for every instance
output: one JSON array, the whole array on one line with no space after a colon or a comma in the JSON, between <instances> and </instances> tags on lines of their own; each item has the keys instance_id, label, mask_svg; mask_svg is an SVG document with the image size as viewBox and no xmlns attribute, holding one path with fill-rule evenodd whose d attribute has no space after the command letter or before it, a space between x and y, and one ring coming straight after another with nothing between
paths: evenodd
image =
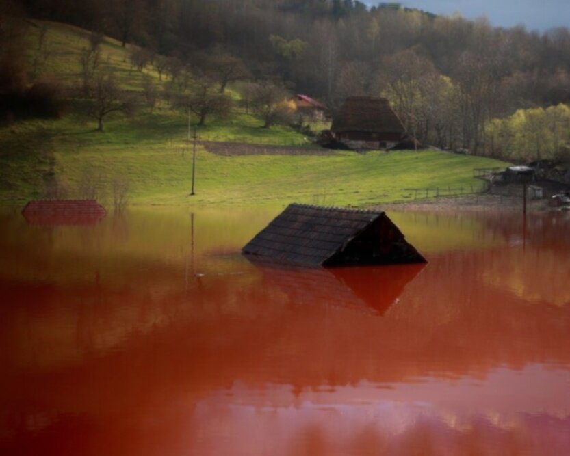
<instances>
[{"instance_id":1,"label":"whole hillside house with tall steep dark roof, walls included","mask_svg":"<svg viewBox=\"0 0 570 456\"><path fill-rule=\"evenodd\" d=\"M333 118L337 141L353 149L387 149L406 139L406 130L386 98L350 96Z\"/></svg>"}]
</instances>

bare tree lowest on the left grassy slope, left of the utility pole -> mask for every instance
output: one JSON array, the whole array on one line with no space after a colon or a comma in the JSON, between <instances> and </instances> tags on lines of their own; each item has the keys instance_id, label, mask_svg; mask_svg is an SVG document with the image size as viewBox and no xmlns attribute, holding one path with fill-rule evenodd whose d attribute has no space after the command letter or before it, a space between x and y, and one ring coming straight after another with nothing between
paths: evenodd
<instances>
[{"instance_id":1,"label":"bare tree lowest on the left grassy slope, left of the utility pole","mask_svg":"<svg viewBox=\"0 0 570 456\"><path fill-rule=\"evenodd\" d=\"M132 100L118 87L112 72L98 72L93 89L94 104L90 112L98 122L96 131L104 131L103 120L110 113L132 111Z\"/></svg>"}]
</instances>

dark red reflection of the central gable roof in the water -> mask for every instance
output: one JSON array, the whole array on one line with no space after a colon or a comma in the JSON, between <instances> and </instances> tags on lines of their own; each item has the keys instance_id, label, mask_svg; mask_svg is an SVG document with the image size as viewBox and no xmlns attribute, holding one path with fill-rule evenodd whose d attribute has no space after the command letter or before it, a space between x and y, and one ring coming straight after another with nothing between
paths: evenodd
<instances>
[{"instance_id":1,"label":"dark red reflection of the central gable roof in the water","mask_svg":"<svg viewBox=\"0 0 570 456\"><path fill-rule=\"evenodd\" d=\"M298 268L254 263L270 286L293 304L349 308L383 314L424 265Z\"/></svg>"}]
</instances>

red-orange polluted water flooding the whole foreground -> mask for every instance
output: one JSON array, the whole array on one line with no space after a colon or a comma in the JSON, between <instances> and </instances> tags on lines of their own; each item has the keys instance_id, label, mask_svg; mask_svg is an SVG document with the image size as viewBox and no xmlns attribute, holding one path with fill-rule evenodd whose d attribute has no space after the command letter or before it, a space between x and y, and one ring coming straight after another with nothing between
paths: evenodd
<instances>
[{"instance_id":1,"label":"red-orange polluted water flooding the whole foreground","mask_svg":"<svg viewBox=\"0 0 570 456\"><path fill-rule=\"evenodd\" d=\"M277 212L0 214L0 454L570 453L565 214L390 213L427 265L250 263Z\"/></svg>"}]
</instances>

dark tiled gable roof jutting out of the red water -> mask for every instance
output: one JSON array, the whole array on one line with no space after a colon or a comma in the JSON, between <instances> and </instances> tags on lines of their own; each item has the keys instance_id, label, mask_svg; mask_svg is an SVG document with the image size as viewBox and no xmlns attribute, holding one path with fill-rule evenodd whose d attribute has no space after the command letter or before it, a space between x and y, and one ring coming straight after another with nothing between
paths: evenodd
<instances>
[{"instance_id":1,"label":"dark tiled gable roof jutting out of the red water","mask_svg":"<svg viewBox=\"0 0 570 456\"><path fill-rule=\"evenodd\" d=\"M425 263L383 211L289 204L242 253L311 267Z\"/></svg>"}]
</instances>

